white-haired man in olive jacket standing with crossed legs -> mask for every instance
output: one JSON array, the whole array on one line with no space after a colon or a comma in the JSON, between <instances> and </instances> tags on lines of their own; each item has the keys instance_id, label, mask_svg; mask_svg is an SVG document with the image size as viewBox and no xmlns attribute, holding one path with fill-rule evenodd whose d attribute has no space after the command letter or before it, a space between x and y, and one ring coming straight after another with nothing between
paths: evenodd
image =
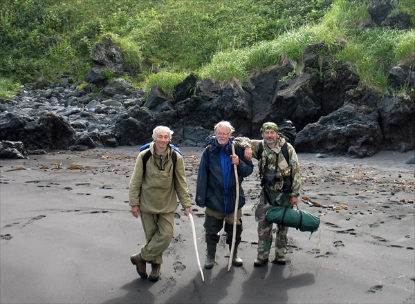
<instances>
[{"instance_id":1,"label":"white-haired man in olive jacket standing with crossed legs","mask_svg":"<svg viewBox=\"0 0 415 304\"><path fill-rule=\"evenodd\" d=\"M169 145L172 134L173 131L167 126L156 126L153 142L138 154L129 184L131 213L136 218L141 216L146 238L141 252L131 256L130 260L142 278L147 278L146 263L151 263L150 281L160 278L163 251L169 247L174 233L177 197L185 209L185 215L192 213L183 158ZM148 151L151 155L143 164L143 157ZM176 153L176 163L172 153Z\"/></svg>"}]
</instances>

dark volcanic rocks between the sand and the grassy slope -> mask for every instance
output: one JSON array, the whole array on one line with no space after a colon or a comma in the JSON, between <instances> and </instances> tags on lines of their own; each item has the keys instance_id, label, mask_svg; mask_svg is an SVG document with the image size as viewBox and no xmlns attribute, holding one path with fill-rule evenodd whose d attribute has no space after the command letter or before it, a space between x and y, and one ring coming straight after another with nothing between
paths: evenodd
<instances>
[{"instance_id":1,"label":"dark volcanic rocks between the sand and the grassy slope","mask_svg":"<svg viewBox=\"0 0 415 304\"><path fill-rule=\"evenodd\" d=\"M109 64L104 53L95 54L99 68ZM232 123L234 135L251 138L261 138L264 122L282 127L291 120L299 152L362 158L380 149L415 149L412 66L403 61L389 72L391 86L407 93L379 96L360 88L353 68L328 54L324 43L312 44L301 73L294 74L293 62L286 60L252 75L244 85L190 74L175 86L174 96L155 86L146 99L142 89L122 78L99 94L91 93L97 88L92 83L84 89L64 82L45 83L45 90L24 88L10 99L0 97L0 141L21 142L31 153L136 145L150 142L161 124L174 131L174 144L205 146L205 137L221 120Z\"/></svg>"}]
</instances>

